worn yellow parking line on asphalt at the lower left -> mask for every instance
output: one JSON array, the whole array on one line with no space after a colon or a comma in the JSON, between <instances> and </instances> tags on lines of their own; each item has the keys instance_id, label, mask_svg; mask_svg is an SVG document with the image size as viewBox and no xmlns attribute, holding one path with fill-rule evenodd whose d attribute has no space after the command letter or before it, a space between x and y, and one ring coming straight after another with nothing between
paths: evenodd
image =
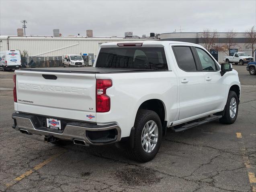
<instances>
[{"instance_id":1,"label":"worn yellow parking line on asphalt at the lower left","mask_svg":"<svg viewBox=\"0 0 256 192\"><path fill-rule=\"evenodd\" d=\"M65 150L66 151L66 150ZM53 159L57 158L58 156L60 156L61 154L63 154L65 151L61 152L61 153L58 153L58 154L55 154L53 156L51 156L50 158L48 158L47 160L39 163L38 165L36 165L35 167L33 167L33 169L25 172L24 174L16 177L13 182L10 182L10 183L7 183L5 184L6 187L10 187L10 186L13 186L14 184L16 184L16 182L22 180L23 178L31 175L33 172L35 172L35 170L39 170L41 167L45 166L46 164L48 164L49 162L51 162Z\"/></svg>"}]
</instances>

